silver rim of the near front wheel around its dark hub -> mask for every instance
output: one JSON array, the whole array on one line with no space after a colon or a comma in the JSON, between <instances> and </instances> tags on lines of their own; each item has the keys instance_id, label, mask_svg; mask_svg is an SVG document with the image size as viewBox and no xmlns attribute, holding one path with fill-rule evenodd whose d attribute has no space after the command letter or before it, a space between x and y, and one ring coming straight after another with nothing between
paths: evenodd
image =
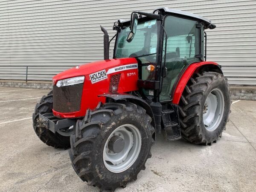
<instances>
[{"instance_id":1,"label":"silver rim of the near front wheel around its dark hub","mask_svg":"<svg viewBox=\"0 0 256 192\"><path fill-rule=\"evenodd\" d=\"M110 148L113 137L122 138L123 149L116 153ZM131 124L121 125L116 128L105 143L103 150L103 162L106 168L113 173L120 173L133 165L140 154L141 134L137 127ZM112 149L112 150L111 150Z\"/></svg>"}]
</instances>

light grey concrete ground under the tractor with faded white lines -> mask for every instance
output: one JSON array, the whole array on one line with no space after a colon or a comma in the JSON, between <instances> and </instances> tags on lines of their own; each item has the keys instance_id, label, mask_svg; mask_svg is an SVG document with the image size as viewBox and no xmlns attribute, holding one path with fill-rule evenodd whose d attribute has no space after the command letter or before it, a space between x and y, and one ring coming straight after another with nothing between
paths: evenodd
<instances>
[{"instance_id":1,"label":"light grey concrete ground under the tractor with faded white lines","mask_svg":"<svg viewBox=\"0 0 256 192\"><path fill-rule=\"evenodd\" d=\"M0 191L99 191L76 175L68 150L36 136L32 112L48 91L0 87ZM227 130L212 146L158 136L145 171L117 191L255 191L256 101L233 103L231 110Z\"/></svg>"}]
</instances>

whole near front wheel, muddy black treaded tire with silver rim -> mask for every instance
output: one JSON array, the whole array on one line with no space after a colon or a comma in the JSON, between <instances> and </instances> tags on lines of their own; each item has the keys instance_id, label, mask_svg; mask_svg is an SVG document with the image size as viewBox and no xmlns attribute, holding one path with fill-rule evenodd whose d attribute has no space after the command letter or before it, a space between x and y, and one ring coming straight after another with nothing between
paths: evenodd
<instances>
[{"instance_id":1,"label":"whole near front wheel, muddy black treaded tire with silver rim","mask_svg":"<svg viewBox=\"0 0 256 192\"><path fill-rule=\"evenodd\" d=\"M105 103L95 111L88 110L84 119L76 123L76 133L70 137L70 160L77 175L102 191L114 191L136 180L151 157L154 143L151 120L143 108L131 102ZM122 143L109 145L120 137L125 142L123 148L119 148ZM131 145L128 140L132 141L132 146L125 157L122 154Z\"/></svg>"}]
</instances>

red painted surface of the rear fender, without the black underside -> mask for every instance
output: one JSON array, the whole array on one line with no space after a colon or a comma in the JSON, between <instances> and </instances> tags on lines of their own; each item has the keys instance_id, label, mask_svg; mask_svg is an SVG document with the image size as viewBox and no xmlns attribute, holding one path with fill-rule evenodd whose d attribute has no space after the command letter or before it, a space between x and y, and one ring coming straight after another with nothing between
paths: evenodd
<instances>
[{"instance_id":1,"label":"red painted surface of the rear fender, without the black underside","mask_svg":"<svg viewBox=\"0 0 256 192\"><path fill-rule=\"evenodd\" d=\"M198 67L201 67L202 65L207 65L207 64L218 65L217 63L214 63L212 61L202 61L202 62L193 63L193 64L189 65L189 67L186 69L186 71L181 76L180 81L177 84L177 87L175 88L175 92L174 92L173 99L172 99L173 104L177 104L177 105L179 104L180 97L183 93L183 90L184 90L187 82L189 81L190 77L195 72L195 70L198 69Z\"/></svg>"}]
</instances>

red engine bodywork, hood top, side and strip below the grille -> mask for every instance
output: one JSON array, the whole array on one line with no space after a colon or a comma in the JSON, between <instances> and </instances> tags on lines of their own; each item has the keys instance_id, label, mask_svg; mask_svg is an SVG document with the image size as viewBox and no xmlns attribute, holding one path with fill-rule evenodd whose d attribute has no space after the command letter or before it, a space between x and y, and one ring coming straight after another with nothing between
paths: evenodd
<instances>
[{"instance_id":1,"label":"red engine bodywork, hood top, side and strip below the grille","mask_svg":"<svg viewBox=\"0 0 256 192\"><path fill-rule=\"evenodd\" d=\"M76 76L84 76L84 87L81 96L81 108L80 111L73 113L60 113L58 111L53 111L53 114L62 118L74 118L79 116L84 116L88 108L94 109L99 102L105 102L105 97L98 97L103 93L109 92L110 79L111 76L121 73L118 93L124 93L132 90L138 90L137 80L138 80L138 69L125 69L115 72L113 68L128 65L137 64L135 58L120 58L120 59L110 59L103 61L96 61L89 64L80 65L79 67L73 67L66 70L52 78L54 84L61 79L67 79ZM111 70L112 69L112 70ZM98 81L96 83L91 82L90 74L105 70L107 72L107 79ZM109 71L110 70L110 71ZM110 74L108 74L110 72ZM127 75L127 73L132 75ZM63 104L65 105L65 104Z\"/></svg>"}]
</instances>

